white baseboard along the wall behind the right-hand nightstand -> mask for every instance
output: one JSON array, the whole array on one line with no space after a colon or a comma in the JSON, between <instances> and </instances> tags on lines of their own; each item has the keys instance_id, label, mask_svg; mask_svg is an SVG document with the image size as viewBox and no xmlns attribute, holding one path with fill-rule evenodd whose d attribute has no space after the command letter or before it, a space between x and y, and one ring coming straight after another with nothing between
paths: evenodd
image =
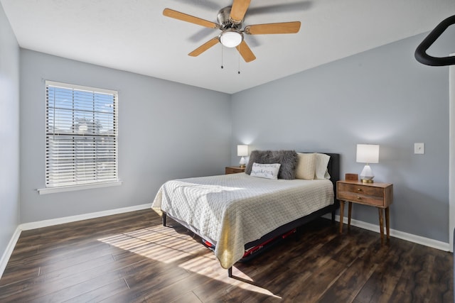
<instances>
[{"instance_id":1,"label":"white baseboard along the wall behind the right-hand nightstand","mask_svg":"<svg viewBox=\"0 0 455 303\"><path fill-rule=\"evenodd\" d=\"M325 216L327 219L331 219L330 215ZM336 221L340 221L340 216L336 215L335 216ZM343 223L348 224L348 218L343 217ZM375 231L376 233L379 233L379 225L376 224L370 224L364 221L358 221L355 219L350 220L350 225L352 226L357 226L363 229L368 229L368 231ZM450 251L450 245L449 243L433 240L430 238L425 238L422 236L416 236L413 235L412 233L405 233L403 231L395 231L394 229L390 229L390 236L393 236L395 238L400 238L405 241L410 241L413 243L421 244L423 246L429 246L432 248L437 248L439 250L444 250L444 251Z\"/></svg>"}]
</instances>

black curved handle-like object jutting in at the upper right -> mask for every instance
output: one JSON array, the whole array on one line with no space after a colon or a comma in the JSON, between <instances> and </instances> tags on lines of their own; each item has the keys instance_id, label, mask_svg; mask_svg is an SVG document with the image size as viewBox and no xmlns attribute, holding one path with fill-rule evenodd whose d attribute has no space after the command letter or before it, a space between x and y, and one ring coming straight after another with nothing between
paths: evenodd
<instances>
[{"instance_id":1,"label":"black curved handle-like object jutting in at the upper right","mask_svg":"<svg viewBox=\"0 0 455 303\"><path fill-rule=\"evenodd\" d=\"M434 41L439 38L439 36L446 31L446 29L455 24L455 16L444 19L439 23L431 33L427 35L427 38L424 38L422 43L417 46L414 56L420 63L424 65L431 66L446 66L446 65L455 65L455 56L454 57L432 57L427 54L427 50L434 43Z\"/></svg>"}]
</instances>

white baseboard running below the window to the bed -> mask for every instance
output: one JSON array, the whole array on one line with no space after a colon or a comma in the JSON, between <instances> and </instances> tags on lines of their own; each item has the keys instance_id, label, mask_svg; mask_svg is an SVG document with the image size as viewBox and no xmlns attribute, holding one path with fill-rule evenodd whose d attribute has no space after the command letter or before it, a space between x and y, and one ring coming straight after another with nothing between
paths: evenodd
<instances>
[{"instance_id":1,"label":"white baseboard running below the window to the bed","mask_svg":"<svg viewBox=\"0 0 455 303\"><path fill-rule=\"evenodd\" d=\"M123 214L123 213L129 212L129 211L139 211L141 209L149 209L149 208L151 208L151 204L141 204L141 205L136 205L136 206L123 207L121 209L109 209L107 211L97 211L97 212L93 212L90 214L80 214L77 216L65 216L63 218L58 218L58 219L50 219L50 220L24 223L24 224L19 225L19 227L21 228L22 231L28 231L29 229L53 226L53 225L58 225L58 224L65 224L65 223L82 221L82 220L87 220L87 219L100 218L102 216L111 216L113 214Z\"/></svg>"}]
</instances>

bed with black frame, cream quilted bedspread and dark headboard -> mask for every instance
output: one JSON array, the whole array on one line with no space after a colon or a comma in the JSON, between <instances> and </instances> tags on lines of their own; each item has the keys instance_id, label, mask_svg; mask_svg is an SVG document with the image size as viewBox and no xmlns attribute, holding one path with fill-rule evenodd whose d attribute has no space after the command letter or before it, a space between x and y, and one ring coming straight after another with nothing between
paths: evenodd
<instances>
[{"instance_id":1,"label":"bed with black frame, cream quilted bedspread and dark headboard","mask_svg":"<svg viewBox=\"0 0 455 303\"><path fill-rule=\"evenodd\" d=\"M168 181L156 194L152 208L161 209L164 226L166 218L171 217L203 238L232 277L232 265L237 261L252 258L265 246L294 233L299 226L324 214L331 214L334 220L339 206L334 194L339 180L339 155L295 154L329 156L326 174L330 179L327 175L316 180L297 179L292 175L298 173L297 162L289 164L286 159L279 169L280 174L289 170L290 176L279 175L286 179L255 177L257 166L252 167L252 160L257 159L253 156L257 154L253 151L247 173ZM259 161L276 162L267 159Z\"/></svg>"}]
</instances>

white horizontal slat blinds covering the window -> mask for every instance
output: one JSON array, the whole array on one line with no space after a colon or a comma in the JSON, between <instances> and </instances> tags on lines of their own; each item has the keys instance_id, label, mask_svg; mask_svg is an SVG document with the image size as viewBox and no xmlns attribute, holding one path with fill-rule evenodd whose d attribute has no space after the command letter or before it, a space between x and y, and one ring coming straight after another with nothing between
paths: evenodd
<instances>
[{"instance_id":1,"label":"white horizontal slat blinds covering the window","mask_svg":"<svg viewBox=\"0 0 455 303\"><path fill-rule=\"evenodd\" d=\"M117 181L117 92L45 87L46 188Z\"/></svg>"}]
</instances>

